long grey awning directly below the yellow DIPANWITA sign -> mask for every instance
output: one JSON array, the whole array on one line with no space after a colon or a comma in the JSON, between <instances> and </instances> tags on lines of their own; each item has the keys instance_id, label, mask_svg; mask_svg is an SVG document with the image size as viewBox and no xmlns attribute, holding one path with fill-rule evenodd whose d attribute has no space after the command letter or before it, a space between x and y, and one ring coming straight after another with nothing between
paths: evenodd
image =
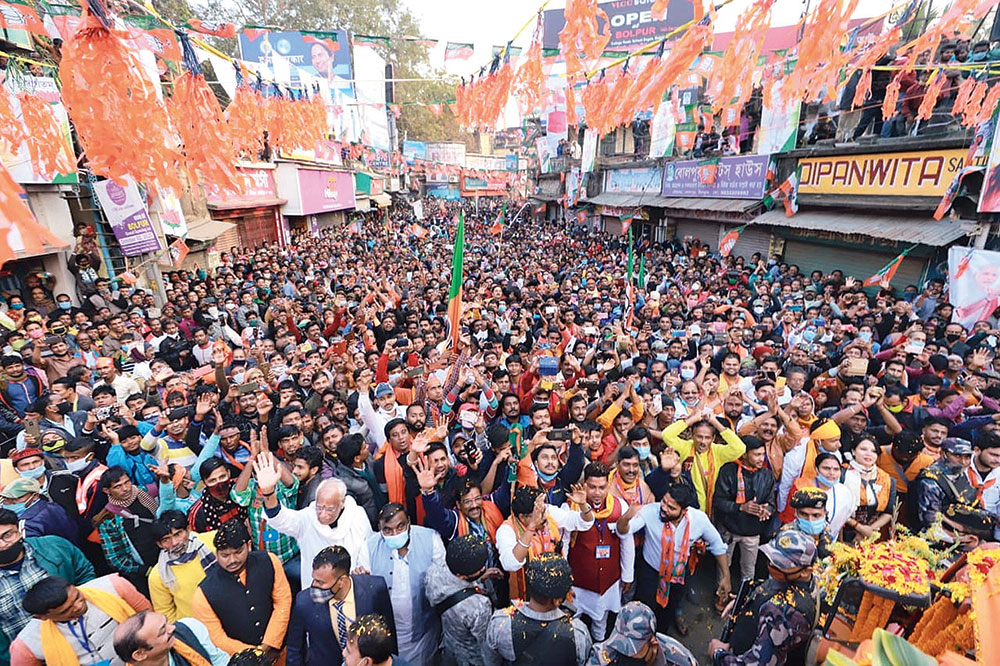
<instances>
[{"instance_id":1,"label":"long grey awning directly below the yellow DIPANWITA sign","mask_svg":"<svg viewBox=\"0 0 1000 666\"><path fill-rule=\"evenodd\" d=\"M960 222L907 215L857 215L839 211L800 211L792 217L775 208L755 217L753 224L791 227L810 231L869 236L899 243L943 247L968 235Z\"/></svg>"}]
</instances>

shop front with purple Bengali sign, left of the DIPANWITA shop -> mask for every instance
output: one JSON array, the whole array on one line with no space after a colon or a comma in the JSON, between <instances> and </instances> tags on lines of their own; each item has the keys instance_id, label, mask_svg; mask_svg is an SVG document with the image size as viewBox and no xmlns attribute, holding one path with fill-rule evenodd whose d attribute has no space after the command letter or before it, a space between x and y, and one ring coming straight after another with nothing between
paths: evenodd
<instances>
[{"instance_id":1,"label":"shop front with purple Bengali sign, left of the DIPANWITA shop","mask_svg":"<svg viewBox=\"0 0 1000 666\"><path fill-rule=\"evenodd\" d=\"M682 160L663 166L660 188L669 236L692 238L712 251L732 229L746 225L763 210L768 155L722 157L718 161ZM747 226L733 248L734 256L766 255L768 231Z\"/></svg>"}]
</instances>

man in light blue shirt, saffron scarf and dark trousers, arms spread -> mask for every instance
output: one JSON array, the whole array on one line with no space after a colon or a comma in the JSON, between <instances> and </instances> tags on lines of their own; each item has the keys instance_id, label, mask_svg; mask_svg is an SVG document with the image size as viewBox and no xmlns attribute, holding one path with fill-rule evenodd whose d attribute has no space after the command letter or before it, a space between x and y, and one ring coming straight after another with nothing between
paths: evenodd
<instances>
[{"instance_id":1,"label":"man in light blue shirt, saffron scarf and dark trousers, arms spread","mask_svg":"<svg viewBox=\"0 0 1000 666\"><path fill-rule=\"evenodd\" d=\"M740 448L742 446L741 443ZM715 556L716 596L726 599L732 590L726 543L705 512L695 508L696 501L695 494L687 486L670 486L659 504L632 506L616 525L622 535L646 532L642 557L637 558L636 563L636 601L653 609L656 630L661 633L666 632L671 622L681 636L688 633L680 608L686 589L691 544L698 539L704 539L708 551Z\"/></svg>"}]
</instances>

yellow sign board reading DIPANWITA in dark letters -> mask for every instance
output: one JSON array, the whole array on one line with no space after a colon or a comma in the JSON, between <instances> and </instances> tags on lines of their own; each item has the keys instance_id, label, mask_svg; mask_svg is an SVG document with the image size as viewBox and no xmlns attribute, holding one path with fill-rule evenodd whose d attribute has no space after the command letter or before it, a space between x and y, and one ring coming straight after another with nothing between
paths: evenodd
<instances>
[{"instance_id":1,"label":"yellow sign board reading DIPANWITA in dark letters","mask_svg":"<svg viewBox=\"0 0 1000 666\"><path fill-rule=\"evenodd\" d=\"M940 197L966 151L831 155L799 160L799 194Z\"/></svg>"}]
</instances>

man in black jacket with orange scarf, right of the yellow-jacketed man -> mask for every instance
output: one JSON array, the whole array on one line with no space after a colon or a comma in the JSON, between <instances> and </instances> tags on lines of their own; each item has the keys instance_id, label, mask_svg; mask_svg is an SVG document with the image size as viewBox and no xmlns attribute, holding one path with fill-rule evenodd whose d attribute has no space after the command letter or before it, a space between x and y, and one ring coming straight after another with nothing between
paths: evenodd
<instances>
[{"instance_id":1,"label":"man in black jacket with orange scarf, right of the yellow-jacketed man","mask_svg":"<svg viewBox=\"0 0 1000 666\"><path fill-rule=\"evenodd\" d=\"M729 559L739 545L740 576L746 580L754 577L760 537L774 513L774 475L764 466L764 442L751 436L743 443L746 453L719 470L714 508Z\"/></svg>"}]
</instances>

